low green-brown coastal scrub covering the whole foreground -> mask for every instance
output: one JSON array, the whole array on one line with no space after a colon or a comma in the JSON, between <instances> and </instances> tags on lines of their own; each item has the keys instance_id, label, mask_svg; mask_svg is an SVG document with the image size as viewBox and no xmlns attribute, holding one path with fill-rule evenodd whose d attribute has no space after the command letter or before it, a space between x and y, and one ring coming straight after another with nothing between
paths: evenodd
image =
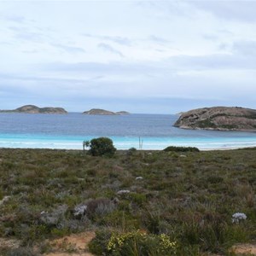
<instances>
[{"instance_id":1,"label":"low green-brown coastal scrub covering the whole foreground","mask_svg":"<svg viewBox=\"0 0 256 256\"><path fill-rule=\"evenodd\" d=\"M255 148L1 148L0 241L12 242L0 255L48 255L53 239L89 230L95 255L235 255L256 240L255 174Z\"/></svg>"}]
</instances>

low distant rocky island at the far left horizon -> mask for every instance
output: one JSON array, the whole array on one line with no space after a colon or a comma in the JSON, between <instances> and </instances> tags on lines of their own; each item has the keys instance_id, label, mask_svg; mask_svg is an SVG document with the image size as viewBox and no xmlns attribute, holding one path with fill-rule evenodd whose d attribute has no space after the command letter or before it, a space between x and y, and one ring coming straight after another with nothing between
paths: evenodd
<instances>
[{"instance_id":1,"label":"low distant rocky island at the far left horizon","mask_svg":"<svg viewBox=\"0 0 256 256\"><path fill-rule=\"evenodd\" d=\"M0 113L67 113L67 111L64 108L39 108L34 105L25 105L13 110L0 110Z\"/></svg>"}]
</instances>

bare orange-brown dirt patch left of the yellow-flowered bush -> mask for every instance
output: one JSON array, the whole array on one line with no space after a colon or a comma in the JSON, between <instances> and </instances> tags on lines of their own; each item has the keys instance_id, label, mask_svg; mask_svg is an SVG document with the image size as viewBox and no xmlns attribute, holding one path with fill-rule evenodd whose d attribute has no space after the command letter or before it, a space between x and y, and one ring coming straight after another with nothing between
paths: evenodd
<instances>
[{"instance_id":1,"label":"bare orange-brown dirt patch left of the yellow-flowered bush","mask_svg":"<svg viewBox=\"0 0 256 256\"><path fill-rule=\"evenodd\" d=\"M50 241L54 252L45 256L93 256L88 250L88 243L95 237L95 232L87 231L80 234L64 236Z\"/></svg>"}]
</instances>

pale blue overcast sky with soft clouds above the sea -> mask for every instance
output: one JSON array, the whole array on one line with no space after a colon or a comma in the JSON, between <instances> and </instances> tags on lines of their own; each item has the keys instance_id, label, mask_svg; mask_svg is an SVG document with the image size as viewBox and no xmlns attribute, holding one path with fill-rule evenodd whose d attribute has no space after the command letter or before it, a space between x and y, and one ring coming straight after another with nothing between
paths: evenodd
<instances>
[{"instance_id":1,"label":"pale blue overcast sky with soft clouds above the sea","mask_svg":"<svg viewBox=\"0 0 256 256\"><path fill-rule=\"evenodd\" d=\"M256 108L256 1L0 0L0 109Z\"/></svg>"}]
</instances>

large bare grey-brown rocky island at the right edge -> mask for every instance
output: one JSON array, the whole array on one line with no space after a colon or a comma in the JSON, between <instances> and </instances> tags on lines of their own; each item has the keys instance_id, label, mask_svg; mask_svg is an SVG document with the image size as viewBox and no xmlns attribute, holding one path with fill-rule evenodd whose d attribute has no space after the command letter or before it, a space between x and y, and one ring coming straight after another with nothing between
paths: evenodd
<instances>
[{"instance_id":1,"label":"large bare grey-brown rocky island at the right edge","mask_svg":"<svg viewBox=\"0 0 256 256\"><path fill-rule=\"evenodd\" d=\"M256 131L256 110L238 107L198 108L182 113L173 126L183 129Z\"/></svg>"}]
</instances>

